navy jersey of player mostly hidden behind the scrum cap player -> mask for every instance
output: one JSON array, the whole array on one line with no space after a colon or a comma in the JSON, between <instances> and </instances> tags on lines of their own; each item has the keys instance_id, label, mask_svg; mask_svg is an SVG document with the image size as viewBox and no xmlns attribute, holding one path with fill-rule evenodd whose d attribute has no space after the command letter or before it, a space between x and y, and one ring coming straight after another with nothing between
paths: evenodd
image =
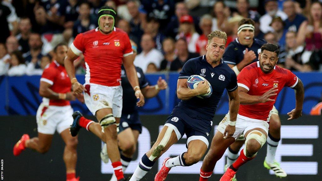
<instances>
[{"instance_id":1,"label":"navy jersey of player mostly hidden behind the scrum cap player","mask_svg":"<svg viewBox=\"0 0 322 181\"><path fill-rule=\"evenodd\" d=\"M147 78L145 77L143 71L139 67L135 67L137 70L137 78L139 79L140 89L143 89L149 85ZM135 91L133 90L130 82L128 81L128 77L126 76L126 72L124 66L121 67L121 85L123 89L123 114L132 114L137 112L137 98L135 97Z\"/></svg>"}]
</instances>

